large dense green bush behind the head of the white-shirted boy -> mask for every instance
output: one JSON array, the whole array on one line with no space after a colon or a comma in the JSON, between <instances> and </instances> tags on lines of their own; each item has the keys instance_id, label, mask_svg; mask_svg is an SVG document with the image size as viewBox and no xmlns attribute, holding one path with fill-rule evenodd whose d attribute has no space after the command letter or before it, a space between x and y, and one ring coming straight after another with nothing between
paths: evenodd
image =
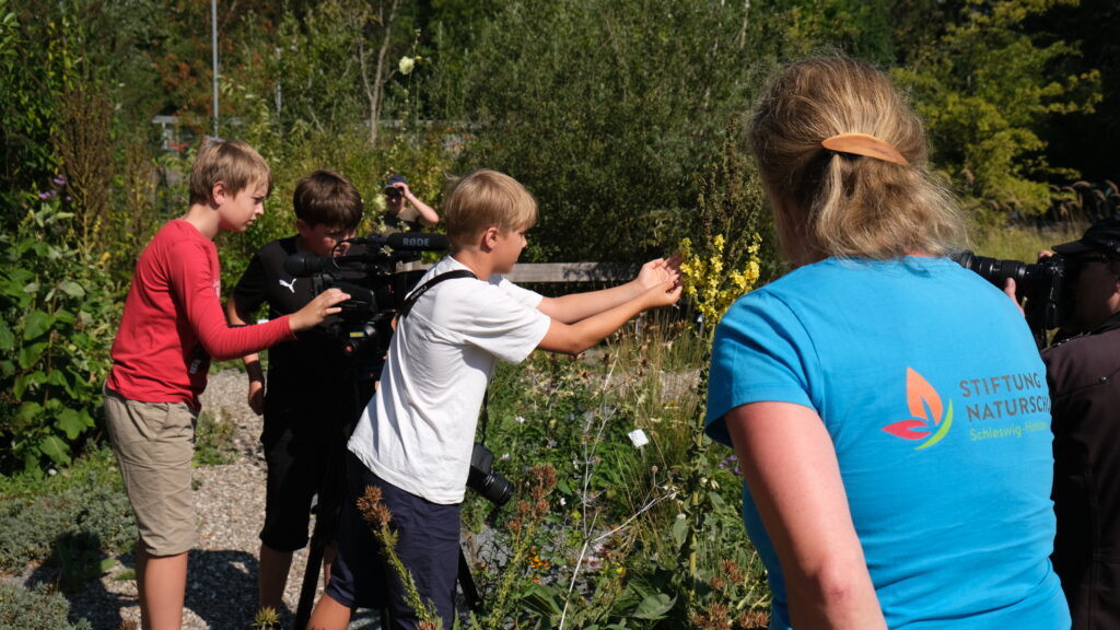
<instances>
[{"instance_id":1,"label":"large dense green bush behind the head of the white-shirted boy","mask_svg":"<svg viewBox=\"0 0 1120 630\"><path fill-rule=\"evenodd\" d=\"M538 196L525 258L668 253L747 106L745 24L743 6L671 0L521 0L488 22L457 82L476 138L463 169L505 170Z\"/></svg>"}]
</instances>

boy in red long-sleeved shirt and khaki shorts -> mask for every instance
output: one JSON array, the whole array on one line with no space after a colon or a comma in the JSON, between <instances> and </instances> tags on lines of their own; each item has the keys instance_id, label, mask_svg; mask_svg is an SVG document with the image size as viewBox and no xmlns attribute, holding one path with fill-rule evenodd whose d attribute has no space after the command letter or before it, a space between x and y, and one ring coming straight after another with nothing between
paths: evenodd
<instances>
[{"instance_id":1,"label":"boy in red long-sleeved shirt and khaki shorts","mask_svg":"<svg viewBox=\"0 0 1120 630\"><path fill-rule=\"evenodd\" d=\"M144 630L183 624L194 545L194 424L211 358L233 359L296 337L349 296L324 291L295 313L230 328L222 314L220 232L264 213L272 175L252 147L207 141L190 168L190 207L164 225L137 261L113 340L105 424L136 513L137 589Z\"/></svg>"}]
</instances>

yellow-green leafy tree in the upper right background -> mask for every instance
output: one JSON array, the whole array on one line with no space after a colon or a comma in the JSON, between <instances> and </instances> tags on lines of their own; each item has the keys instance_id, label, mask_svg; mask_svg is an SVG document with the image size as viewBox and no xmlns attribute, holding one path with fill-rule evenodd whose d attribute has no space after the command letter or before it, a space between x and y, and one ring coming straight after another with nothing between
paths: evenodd
<instances>
[{"instance_id":1,"label":"yellow-green leafy tree in the upper right background","mask_svg":"<svg viewBox=\"0 0 1120 630\"><path fill-rule=\"evenodd\" d=\"M964 0L944 34L917 49L911 85L928 124L933 163L968 195L1001 212L1038 214L1049 205L1046 178L1068 174L1046 159L1044 126L1058 115L1091 112L1100 74L1058 74L1077 54L1025 22L1077 0Z\"/></svg>"}]
</instances>

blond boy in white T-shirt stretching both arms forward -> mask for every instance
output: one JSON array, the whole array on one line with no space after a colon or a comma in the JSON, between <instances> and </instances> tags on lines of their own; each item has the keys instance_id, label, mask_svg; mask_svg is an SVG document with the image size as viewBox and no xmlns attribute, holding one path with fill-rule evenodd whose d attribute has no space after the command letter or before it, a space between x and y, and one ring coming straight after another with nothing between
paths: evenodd
<instances>
[{"instance_id":1,"label":"blond boy in white T-shirt stretching both arms forward","mask_svg":"<svg viewBox=\"0 0 1120 630\"><path fill-rule=\"evenodd\" d=\"M647 262L625 285L557 298L505 279L536 221L536 201L507 175L478 170L461 178L445 219L449 256L402 307L381 383L348 444L338 555L310 628L346 628L356 605L388 608L393 628L417 627L400 580L355 506L368 485L381 489L392 512L395 549L421 600L451 628L459 504L495 362L520 362L536 348L577 354L638 313L680 297L675 257Z\"/></svg>"}]
</instances>

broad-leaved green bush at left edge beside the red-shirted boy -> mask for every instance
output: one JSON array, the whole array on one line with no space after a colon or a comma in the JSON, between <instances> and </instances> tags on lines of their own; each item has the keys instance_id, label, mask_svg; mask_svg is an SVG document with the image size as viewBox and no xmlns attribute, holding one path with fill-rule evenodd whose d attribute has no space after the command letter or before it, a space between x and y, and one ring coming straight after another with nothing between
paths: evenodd
<instances>
[{"instance_id":1,"label":"broad-leaved green bush at left edge beside the red-shirted boy","mask_svg":"<svg viewBox=\"0 0 1120 630\"><path fill-rule=\"evenodd\" d=\"M94 427L119 322L116 288L69 244L72 215L58 203L48 197L15 233L0 234L3 473L71 462Z\"/></svg>"}]
</instances>

